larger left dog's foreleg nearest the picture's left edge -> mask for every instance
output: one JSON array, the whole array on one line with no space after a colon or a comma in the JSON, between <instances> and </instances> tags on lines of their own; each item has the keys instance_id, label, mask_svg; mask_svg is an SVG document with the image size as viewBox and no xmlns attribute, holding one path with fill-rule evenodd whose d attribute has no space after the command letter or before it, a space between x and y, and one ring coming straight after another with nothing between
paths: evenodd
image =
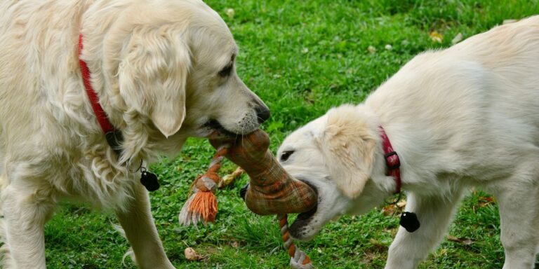
<instances>
[{"instance_id":1,"label":"larger left dog's foreleg nearest the picture's left edge","mask_svg":"<svg viewBox=\"0 0 539 269\"><path fill-rule=\"evenodd\" d=\"M44 226L54 209L48 192L8 186L2 191L2 209L6 233L3 248L8 252L4 255L9 258L4 266L46 268Z\"/></svg>"}]
</instances>

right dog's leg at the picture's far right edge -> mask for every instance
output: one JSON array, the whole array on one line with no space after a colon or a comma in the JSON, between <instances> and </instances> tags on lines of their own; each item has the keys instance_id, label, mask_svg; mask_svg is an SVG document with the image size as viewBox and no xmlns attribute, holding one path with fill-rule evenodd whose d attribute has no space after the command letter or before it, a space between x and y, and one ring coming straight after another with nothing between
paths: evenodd
<instances>
[{"instance_id":1,"label":"right dog's leg at the picture's far right edge","mask_svg":"<svg viewBox=\"0 0 539 269\"><path fill-rule=\"evenodd\" d=\"M539 186L512 182L495 194L505 249L503 268L534 268L539 240Z\"/></svg>"}]
</instances>

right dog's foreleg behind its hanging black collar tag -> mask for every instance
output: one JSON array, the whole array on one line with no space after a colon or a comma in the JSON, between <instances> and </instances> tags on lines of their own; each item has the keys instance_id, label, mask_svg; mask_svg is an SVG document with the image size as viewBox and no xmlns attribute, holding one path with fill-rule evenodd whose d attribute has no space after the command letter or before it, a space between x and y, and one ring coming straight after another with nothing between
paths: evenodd
<instances>
[{"instance_id":1,"label":"right dog's foreleg behind its hanging black collar tag","mask_svg":"<svg viewBox=\"0 0 539 269\"><path fill-rule=\"evenodd\" d=\"M443 238L450 223L461 191L442 197L421 197L408 194L406 211L415 212L421 226L413 233L399 227L387 256L386 269L413 269L425 259Z\"/></svg>"}]
</instances>

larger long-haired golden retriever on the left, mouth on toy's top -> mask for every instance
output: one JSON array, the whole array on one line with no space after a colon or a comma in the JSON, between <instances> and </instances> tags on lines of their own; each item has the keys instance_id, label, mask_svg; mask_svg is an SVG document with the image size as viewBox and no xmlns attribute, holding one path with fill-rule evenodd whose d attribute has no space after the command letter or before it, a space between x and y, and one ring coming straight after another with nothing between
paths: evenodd
<instances>
[{"instance_id":1,"label":"larger long-haired golden retriever on the left, mouth on toy's top","mask_svg":"<svg viewBox=\"0 0 539 269\"><path fill-rule=\"evenodd\" d=\"M64 199L114 210L140 268L173 268L134 171L187 137L243 135L270 116L236 74L227 25L199 0L4 0L0 51L1 268L46 268L44 224Z\"/></svg>"}]
</instances>

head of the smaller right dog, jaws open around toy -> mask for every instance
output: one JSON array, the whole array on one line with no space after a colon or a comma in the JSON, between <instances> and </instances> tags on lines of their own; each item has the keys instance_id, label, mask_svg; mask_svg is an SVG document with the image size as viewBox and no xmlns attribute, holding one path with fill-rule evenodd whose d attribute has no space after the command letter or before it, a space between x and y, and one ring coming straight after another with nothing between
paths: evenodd
<instances>
[{"instance_id":1,"label":"head of the smaller right dog, jaws open around toy","mask_svg":"<svg viewBox=\"0 0 539 269\"><path fill-rule=\"evenodd\" d=\"M387 192L371 177L385 177L373 117L357 106L331 109L286 137L277 152L284 169L317 188L316 210L298 215L290 232L309 240L342 214L361 214L380 205ZM382 164L383 165L383 164Z\"/></svg>"}]
</instances>

